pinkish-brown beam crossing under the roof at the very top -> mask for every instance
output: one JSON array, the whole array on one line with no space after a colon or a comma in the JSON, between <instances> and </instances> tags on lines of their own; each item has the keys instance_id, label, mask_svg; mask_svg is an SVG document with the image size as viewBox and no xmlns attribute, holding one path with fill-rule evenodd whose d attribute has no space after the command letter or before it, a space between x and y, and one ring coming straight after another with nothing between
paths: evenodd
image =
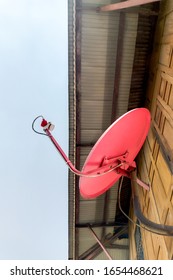
<instances>
[{"instance_id":1,"label":"pinkish-brown beam crossing under the roof at the very top","mask_svg":"<svg viewBox=\"0 0 173 280\"><path fill-rule=\"evenodd\" d=\"M108 12L108 11L115 11L115 10L120 10L120 9L126 9L126 8L131 8L135 7L138 5L144 5L152 2L158 2L160 0L128 0L116 4L109 4L105 5L102 7L99 7L97 10L99 12Z\"/></svg>"}]
</instances>

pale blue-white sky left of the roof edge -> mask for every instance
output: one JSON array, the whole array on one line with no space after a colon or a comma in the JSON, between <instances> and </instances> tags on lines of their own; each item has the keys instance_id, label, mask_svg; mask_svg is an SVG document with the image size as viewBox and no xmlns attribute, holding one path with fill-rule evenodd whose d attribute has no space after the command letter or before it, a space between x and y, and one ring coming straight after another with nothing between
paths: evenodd
<instances>
[{"instance_id":1,"label":"pale blue-white sky left of the roof edge","mask_svg":"<svg viewBox=\"0 0 173 280\"><path fill-rule=\"evenodd\" d=\"M67 0L0 0L0 259L67 259Z\"/></svg>"}]
</instances>

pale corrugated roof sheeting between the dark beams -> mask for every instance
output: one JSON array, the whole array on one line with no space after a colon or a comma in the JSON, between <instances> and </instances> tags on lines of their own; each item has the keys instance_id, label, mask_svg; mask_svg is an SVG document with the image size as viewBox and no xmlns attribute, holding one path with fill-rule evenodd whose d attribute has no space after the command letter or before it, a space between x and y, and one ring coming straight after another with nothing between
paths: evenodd
<instances>
[{"instance_id":1,"label":"pale corrugated roof sheeting between the dark beams","mask_svg":"<svg viewBox=\"0 0 173 280\"><path fill-rule=\"evenodd\" d=\"M137 15L126 15L125 46L121 68L120 97L118 114L127 111L131 73L133 68ZM112 98L119 30L119 13L99 14L94 11L82 11L81 25L81 92L80 124L81 143L93 143L111 124ZM87 134L87 141L86 141ZM90 148L80 148L80 167L89 154ZM107 205L107 220L114 221L117 200L116 185L110 190ZM112 199L111 199L112 196ZM79 222L101 222L104 216L104 195L92 201L80 198ZM83 252L86 243L79 233L79 252ZM91 237L92 239L93 237ZM86 237L89 247L89 239ZM93 241L91 241L92 243ZM124 252L124 251L123 251ZM123 253L122 253L123 254ZM125 255L126 256L126 255ZM101 255L99 256L101 257ZM105 257L105 256L104 256ZM121 258L124 258L121 256Z\"/></svg>"}]
</instances>

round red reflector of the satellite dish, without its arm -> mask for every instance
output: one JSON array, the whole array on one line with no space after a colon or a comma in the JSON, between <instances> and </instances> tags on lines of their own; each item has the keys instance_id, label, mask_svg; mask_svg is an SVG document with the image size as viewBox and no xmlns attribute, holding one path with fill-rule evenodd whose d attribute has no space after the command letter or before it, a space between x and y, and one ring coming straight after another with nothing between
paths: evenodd
<instances>
[{"instance_id":1,"label":"round red reflector of the satellite dish, without its arm","mask_svg":"<svg viewBox=\"0 0 173 280\"><path fill-rule=\"evenodd\" d=\"M107 191L123 175L134 167L134 159L140 151L150 128L150 113L145 108L131 110L117 119L100 137L88 155L82 172L97 170L101 166L112 169L95 178L80 177L80 194L95 198ZM124 161L124 162L123 162Z\"/></svg>"}]
</instances>

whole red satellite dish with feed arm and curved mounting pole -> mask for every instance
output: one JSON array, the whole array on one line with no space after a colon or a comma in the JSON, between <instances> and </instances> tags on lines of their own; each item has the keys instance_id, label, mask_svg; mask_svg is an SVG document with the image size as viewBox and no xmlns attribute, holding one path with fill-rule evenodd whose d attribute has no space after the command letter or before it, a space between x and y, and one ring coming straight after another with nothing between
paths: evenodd
<instances>
[{"instance_id":1,"label":"whole red satellite dish with feed arm and curved mounting pole","mask_svg":"<svg viewBox=\"0 0 173 280\"><path fill-rule=\"evenodd\" d=\"M41 126L44 133L40 133L34 128L35 121L40 117L42 118ZM134 109L124 114L97 141L88 155L82 171L74 167L52 136L51 131L54 126L50 122L47 122L42 116L38 116L33 121L32 128L35 132L48 136L70 170L80 176L80 193L84 198L95 198L103 194L121 176L127 176L132 179L134 211L140 223L145 225L143 228L148 228L147 230L153 233L173 236L172 226L154 223L143 216L136 193L136 185L133 186L133 183L137 183L147 190L150 189L147 184L137 178L134 161L144 144L150 128L150 121L150 113L145 108Z\"/></svg>"}]
</instances>

